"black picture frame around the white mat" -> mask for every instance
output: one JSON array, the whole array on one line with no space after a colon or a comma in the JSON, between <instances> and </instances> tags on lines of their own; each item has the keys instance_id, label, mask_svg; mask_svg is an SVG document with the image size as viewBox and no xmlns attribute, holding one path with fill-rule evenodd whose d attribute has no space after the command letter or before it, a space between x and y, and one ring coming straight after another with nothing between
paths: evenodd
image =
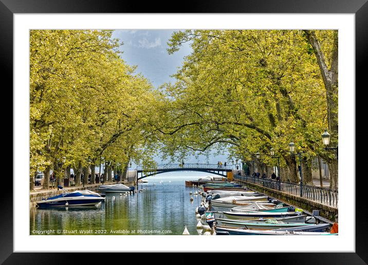
<instances>
[{"instance_id":1,"label":"black picture frame around the white mat","mask_svg":"<svg viewBox=\"0 0 368 265\"><path fill-rule=\"evenodd\" d=\"M172 10L168 8L172 7ZM368 53L368 3L367 0L251 0L251 1L193 1L183 2L180 9L173 7L173 2L99 1L99 0L0 0L0 72L2 80L10 81L13 76L13 14L15 13L354 13L356 37L356 87L363 88L364 64ZM364 84L366 86L366 84ZM3 88L5 89L5 88ZM358 89L352 88L352 92ZM12 96L10 96L12 97ZM356 99L359 99L356 97ZM356 102L356 106L358 106ZM9 126L10 127L10 126ZM6 131L12 133L11 130ZM356 134L356 138L363 135ZM15 140L15 139L14 139ZM355 155L355 154L352 154ZM359 159L358 156L356 156ZM14 163L14 162L13 162ZM355 181L358 183L358 173ZM15 177L15 176L13 176ZM351 176L355 177L355 168ZM359 176L360 177L360 176ZM363 178L366 178L362 175ZM7 184L1 196L2 218L0 219L0 262L4 264L44 264L75 263L76 254L63 253L13 253L13 183ZM271 264L366 264L368 262L367 214L364 194L365 185L356 185L356 252L355 253L263 253L262 263ZM285 246L287 249L287 246ZM85 253L89 258L102 257L104 254ZM155 256L151 254L151 256ZM260 258L259 253L247 254ZM115 255L117 257L117 255ZM154 258L154 257L153 257ZM183 259L193 257L182 255ZM193 260L192 260L193 261ZM106 260L105 260L106 262ZM205 262L204 260L201 262ZM214 262L214 261L213 261ZM257 263L259 263L257 261Z\"/></svg>"}]
</instances>

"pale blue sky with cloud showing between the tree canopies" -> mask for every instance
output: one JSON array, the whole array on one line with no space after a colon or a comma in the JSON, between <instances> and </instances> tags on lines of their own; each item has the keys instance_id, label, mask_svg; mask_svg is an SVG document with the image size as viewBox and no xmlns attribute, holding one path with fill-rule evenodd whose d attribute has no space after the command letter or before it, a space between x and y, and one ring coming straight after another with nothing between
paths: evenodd
<instances>
[{"instance_id":1,"label":"pale blue sky with cloud showing between the tree canopies","mask_svg":"<svg viewBox=\"0 0 368 265\"><path fill-rule=\"evenodd\" d=\"M171 34L177 30L115 30L113 37L120 39L124 44L120 46L123 51L121 57L129 65L137 66L136 73L142 73L145 78L158 87L163 83L175 82L170 75L176 73L181 66L183 58L190 54L190 44L184 44L174 54L168 54L167 42ZM165 163L159 157L156 162ZM226 161L227 155L210 156L209 163ZM186 163L207 163L205 156L198 159L191 157ZM133 165L133 168L135 165Z\"/></svg>"}]
</instances>

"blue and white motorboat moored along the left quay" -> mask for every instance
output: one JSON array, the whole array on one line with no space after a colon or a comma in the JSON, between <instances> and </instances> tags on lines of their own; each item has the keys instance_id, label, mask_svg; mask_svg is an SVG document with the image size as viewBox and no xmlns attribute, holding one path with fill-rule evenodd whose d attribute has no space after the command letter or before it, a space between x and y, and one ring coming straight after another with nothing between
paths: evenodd
<instances>
[{"instance_id":1,"label":"blue and white motorboat moored along the left quay","mask_svg":"<svg viewBox=\"0 0 368 265\"><path fill-rule=\"evenodd\" d=\"M40 208L48 207L71 207L71 206L98 206L105 200L100 194L84 190L68 192L63 187L58 186L63 193L54 197L37 201L36 205Z\"/></svg>"}]
</instances>

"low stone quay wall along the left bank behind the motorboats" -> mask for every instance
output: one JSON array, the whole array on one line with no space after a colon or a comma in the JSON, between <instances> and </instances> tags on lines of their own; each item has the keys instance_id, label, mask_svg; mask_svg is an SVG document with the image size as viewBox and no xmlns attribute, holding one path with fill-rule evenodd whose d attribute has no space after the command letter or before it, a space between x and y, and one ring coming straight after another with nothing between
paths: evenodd
<instances>
[{"instance_id":1,"label":"low stone quay wall along the left bank behind the motorboats","mask_svg":"<svg viewBox=\"0 0 368 265\"><path fill-rule=\"evenodd\" d=\"M134 183L134 181L130 181L130 182L119 182L122 183L126 186L134 186L136 183ZM104 184L116 184L116 182L111 182L111 183L104 183ZM101 183L98 184L88 184L88 185L84 185L83 186L71 186L71 187L65 187L65 190L67 190L68 192L75 192L75 191L82 191L82 190L90 190L90 191L97 191L97 188L101 185ZM43 198L48 198L48 197L52 197L52 196L57 196L61 194L61 190L58 191L57 188L53 189L53 190L38 190L38 191L32 191L29 193L29 203L30 206L33 207L35 206L35 202L36 201L40 201Z\"/></svg>"}]
</instances>

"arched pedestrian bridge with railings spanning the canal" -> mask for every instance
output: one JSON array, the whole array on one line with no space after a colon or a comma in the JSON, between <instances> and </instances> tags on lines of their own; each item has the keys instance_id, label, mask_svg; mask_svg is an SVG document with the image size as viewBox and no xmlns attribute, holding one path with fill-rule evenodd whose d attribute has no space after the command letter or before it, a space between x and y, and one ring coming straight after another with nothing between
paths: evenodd
<instances>
[{"instance_id":1,"label":"arched pedestrian bridge with railings spanning the canal","mask_svg":"<svg viewBox=\"0 0 368 265\"><path fill-rule=\"evenodd\" d=\"M227 172L232 171L233 165L217 165L217 164L161 164L156 168L143 169L141 166L137 167L138 180L153 175L174 172L174 171L199 171L207 172L219 176L226 177ZM140 175L140 176L139 176Z\"/></svg>"}]
</instances>

